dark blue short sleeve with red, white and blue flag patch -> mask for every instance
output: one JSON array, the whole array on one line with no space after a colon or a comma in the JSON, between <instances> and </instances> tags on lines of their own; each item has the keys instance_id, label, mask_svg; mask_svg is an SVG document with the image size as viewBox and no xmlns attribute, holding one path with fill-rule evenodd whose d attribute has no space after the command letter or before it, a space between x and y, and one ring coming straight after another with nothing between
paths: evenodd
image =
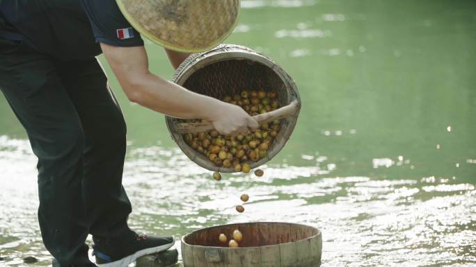
<instances>
[{"instance_id":1,"label":"dark blue short sleeve with red, white and blue flag patch","mask_svg":"<svg viewBox=\"0 0 476 267\"><path fill-rule=\"evenodd\" d=\"M81 0L96 42L112 46L143 46L144 42L115 0Z\"/></svg>"}]
</instances>

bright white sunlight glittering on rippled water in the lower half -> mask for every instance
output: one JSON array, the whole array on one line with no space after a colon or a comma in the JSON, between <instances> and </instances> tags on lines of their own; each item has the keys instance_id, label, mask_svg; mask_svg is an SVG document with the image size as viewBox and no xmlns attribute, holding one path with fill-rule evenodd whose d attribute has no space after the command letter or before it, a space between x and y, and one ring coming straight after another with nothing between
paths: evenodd
<instances>
[{"instance_id":1,"label":"bright white sunlight glittering on rippled water in the lower half","mask_svg":"<svg viewBox=\"0 0 476 267\"><path fill-rule=\"evenodd\" d=\"M131 148L124 179L134 206L130 224L178 238L223 223L306 223L323 232L325 266L476 261L474 185L332 177L331 170L312 164L325 156L303 157L310 166L263 166L262 178L224 175L215 182L178 148ZM21 265L25 255L49 263L35 215L34 166L28 141L0 137L0 254L9 265ZM241 193L251 198L237 214Z\"/></svg>"}]
</instances>

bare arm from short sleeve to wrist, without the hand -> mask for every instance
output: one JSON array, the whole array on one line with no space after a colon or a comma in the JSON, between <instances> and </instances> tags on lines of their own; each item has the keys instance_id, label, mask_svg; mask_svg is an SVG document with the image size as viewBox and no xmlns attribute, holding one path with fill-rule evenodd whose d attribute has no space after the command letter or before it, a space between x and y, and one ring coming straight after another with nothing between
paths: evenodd
<instances>
[{"instance_id":1,"label":"bare arm from short sleeve to wrist, without the hand","mask_svg":"<svg viewBox=\"0 0 476 267\"><path fill-rule=\"evenodd\" d=\"M151 74L143 46L123 48L102 43L101 47L130 101L183 119L210 119L210 110L223 105L215 98L193 93Z\"/></svg>"}]
</instances>

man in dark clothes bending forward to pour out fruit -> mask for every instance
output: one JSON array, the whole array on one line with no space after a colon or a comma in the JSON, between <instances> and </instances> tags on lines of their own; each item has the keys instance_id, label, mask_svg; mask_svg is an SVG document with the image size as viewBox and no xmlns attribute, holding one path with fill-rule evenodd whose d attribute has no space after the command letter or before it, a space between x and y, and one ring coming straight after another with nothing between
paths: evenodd
<instances>
[{"instance_id":1,"label":"man in dark clothes bending forward to pour out fruit","mask_svg":"<svg viewBox=\"0 0 476 267\"><path fill-rule=\"evenodd\" d=\"M215 5L222 2L230 1ZM175 68L188 55L166 52ZM38 157L40 230L60 266L95 266L84 243L88 234L104 266L127 266L174 243L127 226L126 126L95 59L100 53L132 102L212 121L223 134L257 128L240 107L151 74L139 33L113 0L0 0L0 90Z\"/></svg>"}]
</instances>

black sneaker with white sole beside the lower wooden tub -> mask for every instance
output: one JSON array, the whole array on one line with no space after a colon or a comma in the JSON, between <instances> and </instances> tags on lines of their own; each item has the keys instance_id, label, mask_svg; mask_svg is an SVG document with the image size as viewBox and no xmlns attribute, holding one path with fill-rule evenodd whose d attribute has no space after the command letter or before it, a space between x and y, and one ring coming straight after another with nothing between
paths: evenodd
<instances>
[{"instance_id":1,"label":"black sneaker with white sole beside the lower wooden tub","mask_svg":"<svg viewBox=\"0 0 476 267\"><path fill-rule=\"evenodd\" d=\"M128 232L117 239L93 237L93 255L100 267L127 267L138 257L168 250L175 241L172 236L146 236Z\"/></svg>"}]
</instances>

